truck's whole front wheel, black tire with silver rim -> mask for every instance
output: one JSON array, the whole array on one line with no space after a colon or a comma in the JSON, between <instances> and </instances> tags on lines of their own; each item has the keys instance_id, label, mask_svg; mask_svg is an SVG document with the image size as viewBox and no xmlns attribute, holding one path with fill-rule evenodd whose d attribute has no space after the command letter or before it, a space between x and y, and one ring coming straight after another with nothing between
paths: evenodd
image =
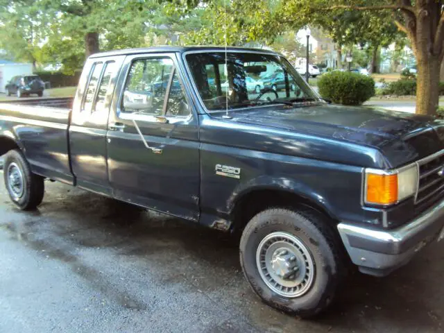
<instances>
[{"instance_id":1,"label":"truck's whole front wheel, black tire with silver rim","mask_svg":"<svg viewBox=\"0 0 444 333\"><path fill-rule=\"evenodd\" d=\"M241 266L250 287L267 305L307 318L331 304L343 276L343 261L336 235L327 223L311 210L281 208L264 210L248 223L241 237ZM293 250L282 254L282 248ZM277 253L280 254L276 256ZM285 265L290 263L284 265L289 272L296 271L292 263L298 270L282 279L276 275L275 266L271 266L271 258ZM273 274L277 280L273 280ZM273 281L287 287L272 289ZM278 286L283 287L279 283Z\"/></svg>"}]
</instances>

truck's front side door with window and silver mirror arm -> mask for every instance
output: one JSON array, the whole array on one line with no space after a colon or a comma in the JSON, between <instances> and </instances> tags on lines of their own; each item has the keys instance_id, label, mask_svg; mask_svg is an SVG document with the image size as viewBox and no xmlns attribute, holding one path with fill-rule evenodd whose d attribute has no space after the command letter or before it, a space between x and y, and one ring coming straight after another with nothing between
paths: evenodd
<instances>
[{"instance_id":1,"label":"truck's front side door with window and silver mirror arm","mask_svg":"<svg viewBox=\"0 0 444 333\"><path fill-rule=\"evenodd\" d=\"M198 221L198 122L182 75L174 53L126 57L108 121L108 177L120 200Z\"/></svg>"}]
</instances>

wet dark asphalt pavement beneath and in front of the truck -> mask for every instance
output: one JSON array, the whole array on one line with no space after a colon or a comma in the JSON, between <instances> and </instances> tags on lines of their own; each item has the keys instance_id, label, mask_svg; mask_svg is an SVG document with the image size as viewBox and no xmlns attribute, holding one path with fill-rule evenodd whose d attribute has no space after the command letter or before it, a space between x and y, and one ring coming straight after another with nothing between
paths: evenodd
<instances>
[{"instance_id":1,"label":"wet dark asphalt pavement beneath and in front of the truck","mask_svg":"<svg viewBox=\"0 0 444 333\"><path fill-rule=\"evenodd\" d=\"M302 321L259 301L221 232L51 182L20 212L0 184L0 332L444 330L444 243Z\"/></svg>"}]
</instances>

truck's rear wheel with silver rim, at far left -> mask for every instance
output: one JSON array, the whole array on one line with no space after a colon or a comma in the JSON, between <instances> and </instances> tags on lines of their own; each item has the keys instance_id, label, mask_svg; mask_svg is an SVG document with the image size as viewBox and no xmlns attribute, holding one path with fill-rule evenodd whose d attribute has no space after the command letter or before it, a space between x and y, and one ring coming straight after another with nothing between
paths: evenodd
<instances>
[{"instance_id":1,"label":"truck's rear wheel with silver rim, at far left","mask_svg":"<svg viewBox=\"0 0 444 333\"><path fill-rule=\"evenodd\" d=\"M44 179L31 172L21 151L13 150L6 154L3 178L12 202L21 210L33 210L42 203Z\"/></svg>"}]
</instances>

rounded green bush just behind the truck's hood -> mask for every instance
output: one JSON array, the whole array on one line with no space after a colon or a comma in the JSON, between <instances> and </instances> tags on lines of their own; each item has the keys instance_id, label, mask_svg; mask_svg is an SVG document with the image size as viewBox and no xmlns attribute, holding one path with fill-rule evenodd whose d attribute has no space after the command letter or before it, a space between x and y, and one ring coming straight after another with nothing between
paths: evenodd
<instances>
[{"instance_id":1,"label":"rounded green bush just behind the truck's hood","mask_svg":"<svg viewBox=\"0 0 444 333\"><path fill-rule=\"evenodd\" d=\"M324 99L344 105L361 105L375 95L375 80L350 71L332 71L318 80Z\"/></svg>"}]
</instances>

